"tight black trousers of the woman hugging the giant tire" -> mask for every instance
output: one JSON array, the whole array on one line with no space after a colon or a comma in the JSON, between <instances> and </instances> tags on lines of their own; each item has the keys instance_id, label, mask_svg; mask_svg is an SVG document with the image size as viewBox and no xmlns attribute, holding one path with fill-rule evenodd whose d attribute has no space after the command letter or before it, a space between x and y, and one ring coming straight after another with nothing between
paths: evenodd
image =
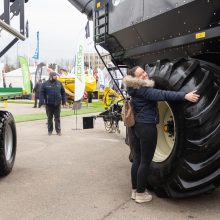
<instances>
[{"instance_id":1,"label":"tight black trousers of the woman hugging the giant tire","mask_svg":"<svg viewBox=\"0 0 220 220\"><path fill-rule=\"evenodd\" d=\"M134 152L131 167L132 188L137 189L138 193L143 193L157 145L156 124L136 123L129 133L130 144Z\"/></svg>"}]
</instances>

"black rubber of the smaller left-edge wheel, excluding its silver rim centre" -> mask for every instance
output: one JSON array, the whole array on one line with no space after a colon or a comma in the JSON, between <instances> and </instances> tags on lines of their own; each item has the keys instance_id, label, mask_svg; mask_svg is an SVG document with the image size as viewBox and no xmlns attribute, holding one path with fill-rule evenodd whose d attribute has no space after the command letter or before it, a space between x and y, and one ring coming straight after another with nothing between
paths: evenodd
<instances>
[{"instance_id":1,"label":"black rubber of the smaller left-edge wheel, excluding its silver rim centre","mask_svg":"<svg viewBox=\"0 0 220 220\"><path fill-rule=\"evenodd\" d=\"M14 161L16 157L16 148L17 148L17 135L16 135L16 126L13 116L9 112L0 112L0 176L6 176L9 174L14 166ZM10 126L12 131L12 153L9 160L6 158L5 152L5 132L7 126Z\"/></svg>"}]
</instances>

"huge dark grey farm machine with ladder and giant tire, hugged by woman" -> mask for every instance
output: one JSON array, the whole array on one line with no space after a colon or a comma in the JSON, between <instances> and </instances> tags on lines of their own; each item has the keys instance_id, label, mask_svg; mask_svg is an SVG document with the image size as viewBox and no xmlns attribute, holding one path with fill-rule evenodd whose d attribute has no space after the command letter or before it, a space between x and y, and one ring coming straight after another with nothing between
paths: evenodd
<instances>
[{"instance_id":1,"label":"huge dark grey farm machine with ladder and giant tire, hugged by woman","mask_svg":"<svg viewBox=\"0 0 220 220\"><path fill-rule=\"evenodd\" d=\"M115 64L108 68L112 78L122 65L141 65L158 88L198 90L196 104L159 103L148 187L173 198L213 191L220 184L220 1L69 2L93 19L95 48Z\"/></svg>"}]
</instances>

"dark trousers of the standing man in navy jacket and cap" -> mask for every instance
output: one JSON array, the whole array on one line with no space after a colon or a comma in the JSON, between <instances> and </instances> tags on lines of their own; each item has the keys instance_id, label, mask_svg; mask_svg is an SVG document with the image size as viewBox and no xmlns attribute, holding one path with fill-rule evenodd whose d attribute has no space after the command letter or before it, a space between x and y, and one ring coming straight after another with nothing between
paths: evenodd
<instances>
[{"instance_id":1,"label":"dark trousers of the standing man in navy jacket and cap","mask_svg":"<svg viewBox=\"0 0 220 220\"><path fill-rule=\"evenodd\" d=\"M53 105L47 105L46 106L46 112L47 112L47 119L48 119L48 132L53 132L53 117L55 121L55 130L57 133L61 132L60 128L60 111L61 106L53 106Z\"/></svg>"}]
</instances>

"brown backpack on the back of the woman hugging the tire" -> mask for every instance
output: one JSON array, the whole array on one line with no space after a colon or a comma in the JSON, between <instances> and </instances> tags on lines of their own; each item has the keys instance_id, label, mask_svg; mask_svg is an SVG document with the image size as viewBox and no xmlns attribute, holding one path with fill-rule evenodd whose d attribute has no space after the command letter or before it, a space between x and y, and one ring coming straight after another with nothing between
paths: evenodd
<instances>
[{"instance_id":1,"label":"brown backpack on the back of the woman hugging the tire","mask_svg":"<svg viewBox=\"0 0 220 220\"><path fill-rule=\"evenodd\" d=\"M130 128L135 125L134 110L130 99L125 99L125 103L122 107L121 116L126 127Z\"/></svg>"}]
</instances>

